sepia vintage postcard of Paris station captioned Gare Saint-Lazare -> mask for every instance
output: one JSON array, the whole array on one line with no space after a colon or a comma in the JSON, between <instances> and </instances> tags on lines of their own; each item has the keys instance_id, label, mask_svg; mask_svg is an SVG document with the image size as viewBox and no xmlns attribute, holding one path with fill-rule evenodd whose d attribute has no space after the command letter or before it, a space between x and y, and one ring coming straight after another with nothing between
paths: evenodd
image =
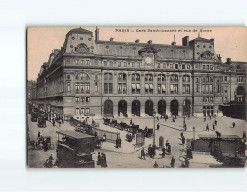
<instances>
[{"instance_id":1,"label":"sepia vintage postcard of Paris station captioned Gare Saint-Lazare","mask_svg":"<svg viewBox=\"0 0 247 195\"><path fill-rule=\"evenodd\" d=\"M28 27L27 167L246 167L246 27Z\"/></svg>"}]
</instances>

